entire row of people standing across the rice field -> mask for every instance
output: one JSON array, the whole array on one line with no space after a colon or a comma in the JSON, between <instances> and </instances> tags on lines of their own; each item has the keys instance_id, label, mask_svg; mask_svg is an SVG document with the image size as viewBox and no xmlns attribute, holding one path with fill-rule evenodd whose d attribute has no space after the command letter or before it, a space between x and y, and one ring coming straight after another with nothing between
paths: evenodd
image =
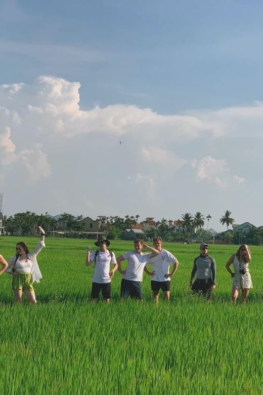
<instances>
[{"instance_id":1,"label":"entire row of people standing across the rice field","mask_svg":"<svg viewBox=\"0 0 263 395\"><path fill-rule=\"evenodd\" d=\"M22 302L22 293L26 295L31 303L36 303L36 297L33 289L33 283L39 282L42 278L36 256L45 247L45 230L38 226L41 239L37 247L29 252L28 246L24 242L16 245L16 255L7 262L0 255L0 275L6 271L13 275L12 289L14 291L17 303ZM92 301L97 301L100 293L103 299L109 303L111 299L111 280L115 271L118 269L122 274L120 297L127 299L143 300L142 281L143 272L145 271L151 277L151 289L155 303L158 304L160 290L163 292L164 300L170 299L170 280L176 273L179 261L169 251L162 248L162 239L156 237L153 239L153 247L150 247L140 239L134 241L134 250L115 257L114 252L108 250L110 241L101 239L95 243L99 250L94 252L89 247L86 249L86 266L94 263L94 275L92 279ZM213 257L208 255L209 245L202 243L200 245L200 254L194 259L193 270L190 279L190 288L193 293L198 293L210 299L211 292L216 285L216 263ZM149 252L145 253L142 250ZM121 262L127 260L126 269L122 269ZM245 302L249 290L252 288L251 277L249 273L249 262L251 253L248 246L239 247L236 254L232 255L226 264L226 268L234 279L232 287L232 300L237 300L240 289L242 290L241 298ZM113 264L110 270L110 264ZM231 265L233 264L233 269ZM152 271L147 266L150 265ZM170 265L172 270L170 271Z\"/></svg>"}]
</instances>

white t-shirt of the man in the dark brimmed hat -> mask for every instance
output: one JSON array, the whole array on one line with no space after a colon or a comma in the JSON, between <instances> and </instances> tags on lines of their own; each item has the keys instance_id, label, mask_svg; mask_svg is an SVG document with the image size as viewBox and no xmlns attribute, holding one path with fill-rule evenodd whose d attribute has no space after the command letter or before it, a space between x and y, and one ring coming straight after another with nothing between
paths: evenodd
<instances>
[{"instance_id":1,"label":"white t-shirt of the man in the dark brimmed hat","mask_svg":"<svg viewBox=\"0 0 263 395\"><path fill-rule=\"evenodd\" d=\"M96 251L94 251L90 256L90 260L92 262L95 261L95 254ZM111 261L114 264L117 263L114 252L112 253L111 258L108 250L106 252L99 251L99 254L96 257L96 263L94 267L94 275L92 278L93 283L105 284L111 282L109 277Z\"/></svg>"}]
</instances>

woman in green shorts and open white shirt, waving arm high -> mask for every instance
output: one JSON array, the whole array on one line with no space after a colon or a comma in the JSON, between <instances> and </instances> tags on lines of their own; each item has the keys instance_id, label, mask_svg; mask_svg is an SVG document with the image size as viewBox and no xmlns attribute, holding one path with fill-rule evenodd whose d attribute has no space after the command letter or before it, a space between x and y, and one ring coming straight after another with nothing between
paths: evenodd
<instances>
[{"instance_id":1,"label":"woman in green shorts and open white shirt, waving arm high","mask_svg":"<svg viewBox=\"0 0 263 395\"><path fill-rule=\"evenodd\" d=\"M15 294L17 303L22 302L22 293L26 295L29 302L35 304L35 292L32 284L42 278L37 261L36 255L45 247L45 230L38 226L40 230L41 239L37 247L29 252L28 246L24 242L19 242L16 245L16 255L8 261L7 273L13 275L12 289Z\"/></svg>"}]
</instances>

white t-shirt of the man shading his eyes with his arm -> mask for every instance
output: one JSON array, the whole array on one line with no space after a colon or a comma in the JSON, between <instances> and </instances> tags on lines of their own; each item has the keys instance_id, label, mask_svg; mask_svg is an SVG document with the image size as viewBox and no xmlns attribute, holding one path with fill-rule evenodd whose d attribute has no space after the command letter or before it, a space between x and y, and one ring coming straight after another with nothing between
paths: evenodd
<instances>
[{"instance_id":1,"label":"white t-shirt of the man shading his eyes with his arm","mask_svg":"<svg viewBox=\"0 0 263 395\"><path fill-rule=\"evenodd\" d=\"M135 251L122 254L123 258L128 260L127 272L123 274L122 278L130 281L143 281L143 269L151 255L151 252L138 254Z\"/></svg>"}]
</instances>

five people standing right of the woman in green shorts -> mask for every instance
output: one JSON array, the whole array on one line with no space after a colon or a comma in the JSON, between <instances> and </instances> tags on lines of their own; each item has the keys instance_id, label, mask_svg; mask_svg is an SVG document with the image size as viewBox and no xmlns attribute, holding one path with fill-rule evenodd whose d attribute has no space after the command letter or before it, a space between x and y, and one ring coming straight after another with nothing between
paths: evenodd
<instances>
[{"instance_id":1,"label":"five people standing right of the woman in green shorts","mask_svg":"<svg viewBox=\"0 0 263 395\"><path fill-rule=\"evenodd\" d=\"M159 292L162 290L164 300L170 298L170 279L176 273L179 261L169 251L162 248L162 239L157 237L153 239L153 247L144 244L140 239L134 241L134 251L126 252L117 259L115 254L107 249L110 242L107 239L99 240L95 243L100 250L91 253L91 249L86 249L86 266L94 264L94 276L92 280L92 300L99 298L100 292L107 303L111 299L111 280L114 272L118 269L122 274L120 297L126 299L128 296L134 299L143 300L142 281L143 272L145 271L152 277L151 289L153 298L156 303L159 300ZM211 292L215 289L216 284L216 263L213 257L208 255L209 245L202 243L200 245L200 254L194 259L194 265L191 273L190 288L193 293L204 295L210 299ZM143 249L150 252L144 253ZM127 260L127 268L122 270L121 262ZM251 277L248 269L251 260L251 253L247 245L239 247L236 254L232 255L226 264L227 270L231 277L234 278L232 287L232 300L236 301L239 290L242 290L242 301L245 302L249 290L252 288ZM100 263L98 263L100 262ZM110 263L113 264L110 270ZM230 266L233 263L234 271ZM150 265L152 271L149 271L147 265ZM172 271L169 272L170 265Z\"/></svg>"}]
</instances>

